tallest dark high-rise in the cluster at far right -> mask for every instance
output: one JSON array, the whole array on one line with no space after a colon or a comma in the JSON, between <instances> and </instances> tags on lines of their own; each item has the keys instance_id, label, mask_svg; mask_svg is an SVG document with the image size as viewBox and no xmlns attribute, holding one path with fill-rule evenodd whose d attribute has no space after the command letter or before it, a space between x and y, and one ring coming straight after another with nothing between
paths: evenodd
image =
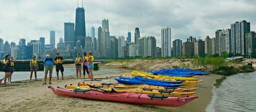
<instances>
[{"instance_id":1,"label":"tallest dark high-rise in the cluster at far right","mask_svg":"<svg viewBox=\"0 0 256 112\"><path fill-rule=\"evenodd\" d=\"M250 22L245 20L231 24L231 53L245 54L246 41L245 34L250 32Z\"/></svg>"}]
</instances>

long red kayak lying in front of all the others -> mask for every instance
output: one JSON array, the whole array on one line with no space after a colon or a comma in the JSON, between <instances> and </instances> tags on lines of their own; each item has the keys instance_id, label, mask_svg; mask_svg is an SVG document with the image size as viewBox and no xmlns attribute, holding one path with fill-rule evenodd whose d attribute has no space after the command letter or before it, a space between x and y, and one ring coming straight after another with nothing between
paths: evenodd
<instances>
[{"instance_id":1,"label":"long red kayak lying in front of all the others","mask_svg":"<svg viewBox=\"0 0 256 112\"><path fill-rule=\"evenodd\" d=\"M154 106L165 106L165 107L180 107L188 103L189 101L198 97L165 97L163 95L155 94L142 94L134 92L121 92L121 93L103 93L96 90L67 90L60 87L49 86L54 94L85 98L93 100L113 101L121 103L132 103L138 105L154 105ZM80 91L79 91L80 90Z\"/></svg>"}]
</instances>

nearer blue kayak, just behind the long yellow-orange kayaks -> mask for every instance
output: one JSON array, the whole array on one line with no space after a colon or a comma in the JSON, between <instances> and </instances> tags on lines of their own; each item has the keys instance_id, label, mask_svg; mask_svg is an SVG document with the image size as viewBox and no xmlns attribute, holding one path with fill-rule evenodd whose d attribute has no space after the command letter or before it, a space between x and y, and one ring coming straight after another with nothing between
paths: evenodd
<instances>
[{"instance_id":1,"label":"nearer blue kayak, just behind the long yellow-orange kayaks","mask_svg":"<svg viewBox=\"0 0 256 112\"><path fill-rule=\"evenodd\" d=\"M171 83L141 81L141 80L138 80L138 79L135 78L135 77L132 77L132 78L126 78L126 77L115 78L115 80L116 80L118 83L128 84L128 85L148 84L148 85L164 86L164 87L179 87L179 86L181 86L181 84L171 84Z\"/></svg>"}]
</instances>

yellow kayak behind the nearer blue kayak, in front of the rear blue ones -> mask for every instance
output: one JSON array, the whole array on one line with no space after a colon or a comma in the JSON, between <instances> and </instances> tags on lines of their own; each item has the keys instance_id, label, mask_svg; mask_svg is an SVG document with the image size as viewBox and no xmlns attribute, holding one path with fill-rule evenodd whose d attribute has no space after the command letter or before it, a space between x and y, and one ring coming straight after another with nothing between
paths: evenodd
<instances>
[{"instance_id":1,"label":"yellow kayak behind the nearer blue kayak, in front of the rear blue ones","mask_svg":"<svg viewBox=\"0 0 256 112\"><path fill-rule=\"evenodd\" d=\"M176 81L196 81L196 78L192 77L175 77L175 76L165 76L165 75L154 75L151 73L146 73L143 71L132 71L132 76L142 76L142 77L150 77L150 78L163 78L163 79L175 79Z\"/></svg>"}]
</instances>

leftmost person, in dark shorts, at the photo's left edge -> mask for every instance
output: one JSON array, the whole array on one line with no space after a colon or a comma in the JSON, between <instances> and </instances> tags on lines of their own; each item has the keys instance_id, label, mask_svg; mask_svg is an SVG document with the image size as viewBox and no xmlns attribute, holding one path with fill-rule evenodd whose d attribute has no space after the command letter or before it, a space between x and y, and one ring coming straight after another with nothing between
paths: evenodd
<instances>
[{"instance_id":1,"label":"leftmost person, in dark shorts, at the photo's left edge","mask_svg":"<svg viewBox=\"0 0 256 112\"><path fill-rule=\"evenodd\" d=\"M4 60L5 60L5 62L3 62ZM4 55L4 60L2 60L1 62L4 63L4 69L3 69L3 71L4 71L4 85L6 86L6 79L7 79L7 77L10 77L10 66L11 66L10 55L5 54ZM1 83L2 83L2 80L1 80Z\"/></svg>"}]
</instances>

